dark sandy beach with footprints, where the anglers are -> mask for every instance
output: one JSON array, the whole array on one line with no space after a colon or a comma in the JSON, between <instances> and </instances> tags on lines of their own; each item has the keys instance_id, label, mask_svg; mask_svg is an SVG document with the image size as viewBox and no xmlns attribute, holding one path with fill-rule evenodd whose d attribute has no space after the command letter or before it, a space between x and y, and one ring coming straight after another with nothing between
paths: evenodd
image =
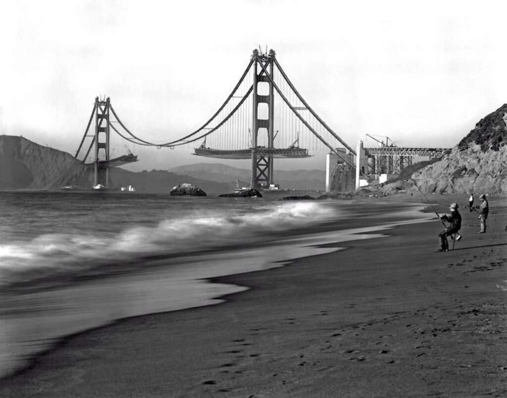
<instances>
[{"instance_id":1,"label":"dark sandy beach with footprints, where the anglers are","mask_svg":"<svg viewBox=\"0 0 507 398\"><path fill-rule=\"evenodd\" d=\"M456 197L429 199L447 211ZM250 289L69 337L0 381L0 395L507 396L506 206L490 199L480 235L477 213L460 208L449 252L434 252L436 219L217 278Z\"/></svg>"}]
</instances>

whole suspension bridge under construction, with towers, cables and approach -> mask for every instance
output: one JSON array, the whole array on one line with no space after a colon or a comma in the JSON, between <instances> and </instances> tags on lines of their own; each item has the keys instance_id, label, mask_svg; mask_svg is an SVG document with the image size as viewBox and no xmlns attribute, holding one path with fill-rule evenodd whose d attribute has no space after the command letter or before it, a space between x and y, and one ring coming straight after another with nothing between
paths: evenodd
<instances>
[{"instance_id":1,"label":"whole suspension bridge under construction, with towers, cables and approach","mask_svg":"<svg viewBox=\"0 0 507 398\"><path fill-rule=\"evenodd\" d=\"M197 156L251 159L250 186L255 189L274 185L274 159L308 158L312 156L309 149L331 155L328 180L336 179L338 171L340 175L354 174L355 187L361 179L374 178L372 173L399 172L412 163L414 156L424 153L438 157L448 151L392 145L366 150L358 145L354 150L304 100L273 50L254 50L238 83L218 110L195 131L168 142L139 138L119 118L110 98L95 98L75 155L94 168L94 185L108 186L110 167L137 161L134 152L139 146L193 147Z\"/></svg>"}]
</instances>

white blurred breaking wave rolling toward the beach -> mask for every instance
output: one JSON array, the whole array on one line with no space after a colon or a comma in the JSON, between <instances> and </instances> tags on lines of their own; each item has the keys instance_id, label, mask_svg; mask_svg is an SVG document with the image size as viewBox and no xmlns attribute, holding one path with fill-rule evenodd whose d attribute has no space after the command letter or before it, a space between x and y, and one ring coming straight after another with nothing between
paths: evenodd
<instances>
[{"instance_id":1,"label":"white blurred breaking wave rolling toward the beach","mask_svg":"<svg viewBox=\"0 0 507 398\"><path fill-rule=\"evenodd\" d=\"M132 267L152 256L261 241L266 233L304 228L336 214L335 209L315 202L271 203L248 210L201 209L151 227L134 225L118 232L70 229L28 242L0 244L0 284L59 274L79 276L91 268L107 272L111 264Z\"/></svg>"}]
</instances>

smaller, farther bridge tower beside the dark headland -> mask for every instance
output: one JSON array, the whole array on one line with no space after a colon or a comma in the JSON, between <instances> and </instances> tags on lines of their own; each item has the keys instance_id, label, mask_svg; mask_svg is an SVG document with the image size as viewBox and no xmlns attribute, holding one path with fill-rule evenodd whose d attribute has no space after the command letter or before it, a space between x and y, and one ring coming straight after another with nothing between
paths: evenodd
<instances>
[{"instance_id":1,"label":"smaller, farther bridge tower beside the dark headland","mask_svg":"<svg viewBox=\"0 0 507 398\"><path fill-rule=\"evenodd\" d=\"M95 97L95 154L94 154L94 177L93 185L101 184L105 187L109 185L109 111L111 102L109 97L105 101ZM104 154L101 154L103 150ZM104 156L103 161L99 161L100 156ZM102 164L101 164L102 163Z\"/></svg>"}]
</instances>

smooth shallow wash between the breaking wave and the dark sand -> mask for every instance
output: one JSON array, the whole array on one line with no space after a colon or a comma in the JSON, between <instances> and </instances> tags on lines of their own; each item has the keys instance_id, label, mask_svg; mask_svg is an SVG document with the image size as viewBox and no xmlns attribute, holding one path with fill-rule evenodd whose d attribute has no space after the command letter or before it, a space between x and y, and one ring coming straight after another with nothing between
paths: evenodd
<instances>
[{"instance_id":1,"label":"smooth shallow wash between the breaking wave and the dark sand","mask_svg":"<svg viewBox=\"0 0 507 398\"><path fill-rule=\"evenodd\" d=\"M341 249L334 247L340 242L382 237L383 231L400 220L425 222L426 217L418 207L410 205L393 211L389 206L387 221L379 206L375 206L361 209L363 215L359 222L354 221L357 213L352 211L345 214L339 225L333 222L304 230L287 230L261 246L245 242L241 246L177 258L154 256L135 271L127 272L128 267L123 267L112 274L95 275L91 270L91 274L82 274L74 280L57 278L48 285L28 284L24 293L21 286L12 286L14 290L11 288L10 293L7 290L0 296L3 315L0 378L19 373L30 366L33 358L70 336L133 316L220 304L224 301L222 296L246 289L212 281L220 276L282 267L296 259L334 252ZM329 243L335 245L328 246ZM168 261L175 262L169 265ZM108 267L109 272L112 268ZM16 316L20 309L24 315L22 312Z\"/></svg>"}]
</instances>

